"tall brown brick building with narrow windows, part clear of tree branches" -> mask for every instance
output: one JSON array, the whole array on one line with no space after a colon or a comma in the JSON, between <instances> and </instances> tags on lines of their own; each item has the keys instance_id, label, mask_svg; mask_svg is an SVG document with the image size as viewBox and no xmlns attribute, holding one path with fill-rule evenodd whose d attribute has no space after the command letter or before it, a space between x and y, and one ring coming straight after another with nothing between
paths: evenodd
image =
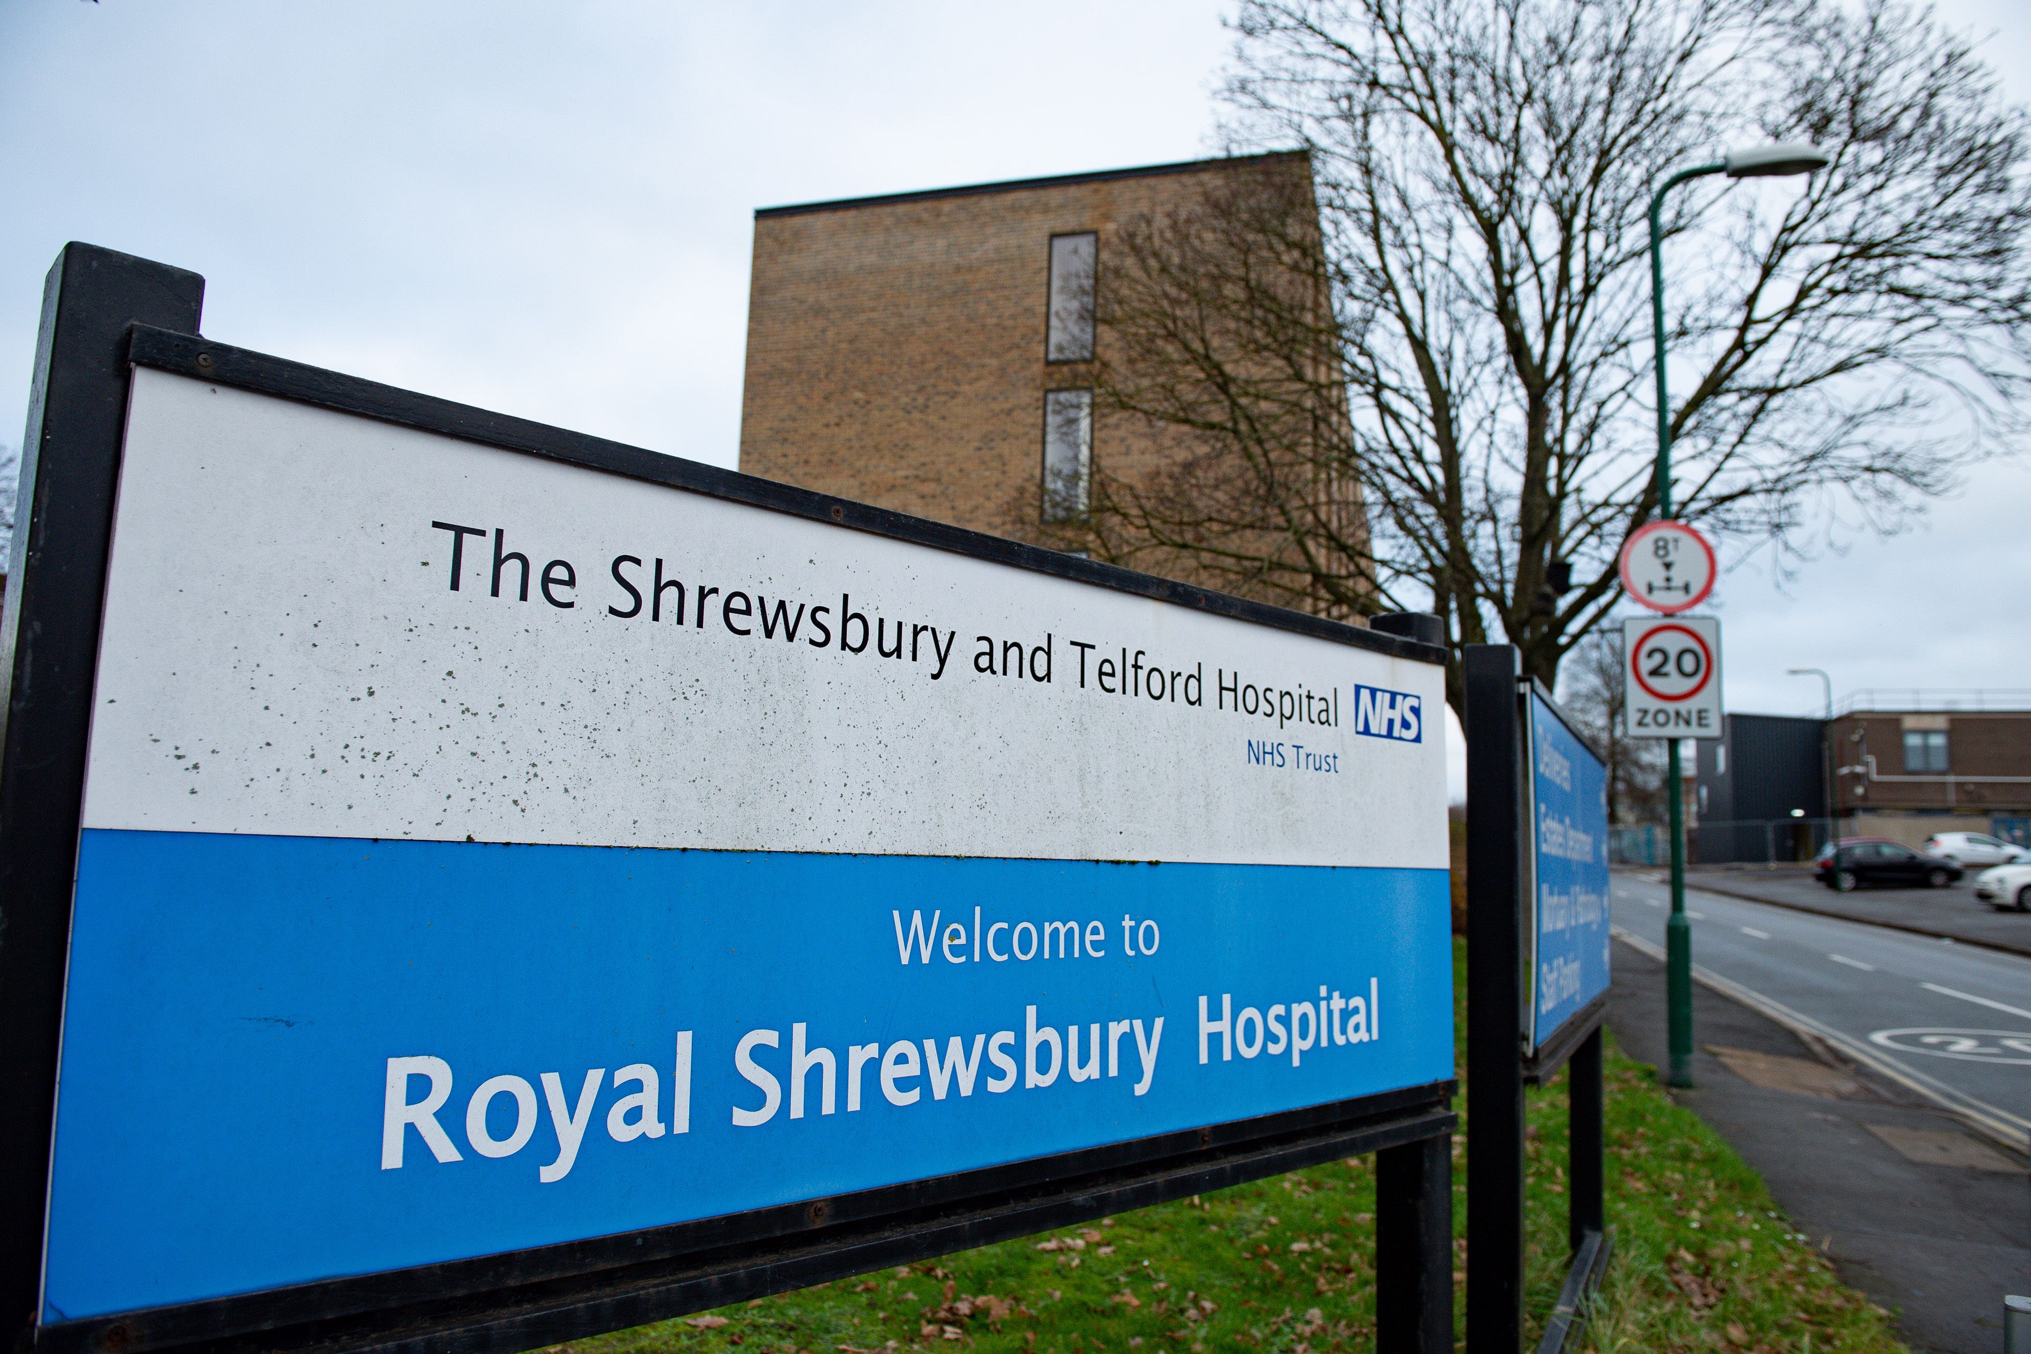
<instances>
[{"instance_id":1,"label":"tall brown brick building with narrow windows, part clear of tree branches","mask_svg":"<svg viewBox=\"0 0 2031 1354\"><path fill-rule=\"evenodd\" d=\"M1190 451L1095 410L1111 242L1241 177L1316 223L1302 152L756 211L739 467L1064 548L1048 528L1083 518L1097 463L1137 479Z\"/></svg>"}]
</instances>

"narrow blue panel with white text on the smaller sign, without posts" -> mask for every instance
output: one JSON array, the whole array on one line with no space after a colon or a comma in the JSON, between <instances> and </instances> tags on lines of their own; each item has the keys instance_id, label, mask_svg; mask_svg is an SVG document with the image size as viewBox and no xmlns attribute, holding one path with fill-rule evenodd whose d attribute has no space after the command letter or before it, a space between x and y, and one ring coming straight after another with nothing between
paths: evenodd
<instances>
[{"instance_id":1,"label":"narrow blue panel with white text on the smaller sign, without posts","mask_svg":"<svg viewBox=\"0 0 2031 1354\"><path fill-rule=\"evenodd\" d=\"M1609 991L1609 777L1535 690L1529 710L1529 1047Z\"/></svg>"}]
</instances>

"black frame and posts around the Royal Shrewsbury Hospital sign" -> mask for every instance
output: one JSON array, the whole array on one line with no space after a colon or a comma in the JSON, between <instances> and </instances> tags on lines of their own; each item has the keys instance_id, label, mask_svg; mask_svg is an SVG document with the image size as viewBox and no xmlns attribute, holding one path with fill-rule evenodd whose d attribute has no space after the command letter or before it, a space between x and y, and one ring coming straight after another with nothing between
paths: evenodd
<instances>
[{"instance_id":1,"label":"black frame and posts around the Royal Shrewsbury Hospital sign","mask_svg":"<svg viewBox=\"0 0 2031 1354\"><path fill-rule=\"evenodd\" d=\"M211 343L203 278L67 246L45 288L0 680L0 1311L16 1350L510 1350L1377 1153L1377 1340L1452 1348L1450 1080L727 1218L102 1319L41 1319L71 889L130 374L764 505L1416 662L1444 650ZM284 1200L276 1200L286 1208ZM203 1238L193 1236L201 1246Z\"/></svg>"}]
</instances>

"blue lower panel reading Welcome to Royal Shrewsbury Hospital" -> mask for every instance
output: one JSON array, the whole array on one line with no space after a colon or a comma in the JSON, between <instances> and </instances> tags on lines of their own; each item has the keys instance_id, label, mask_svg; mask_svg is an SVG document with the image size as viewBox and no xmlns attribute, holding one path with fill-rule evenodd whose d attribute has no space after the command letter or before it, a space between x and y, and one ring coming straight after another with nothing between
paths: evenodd
<instances>
[{"instance_id":1,"label":"blue lower panel reading Welcome to Royal Shrewsbury Hospital","mask_svg":"<svg viewBox=\"0 0 2031 1354\"><path fill-rule=\"evenodd\" d=\"M89 830L45 1319L1452 1074L1444 871Z\"/></svg>"}]
</instances>

